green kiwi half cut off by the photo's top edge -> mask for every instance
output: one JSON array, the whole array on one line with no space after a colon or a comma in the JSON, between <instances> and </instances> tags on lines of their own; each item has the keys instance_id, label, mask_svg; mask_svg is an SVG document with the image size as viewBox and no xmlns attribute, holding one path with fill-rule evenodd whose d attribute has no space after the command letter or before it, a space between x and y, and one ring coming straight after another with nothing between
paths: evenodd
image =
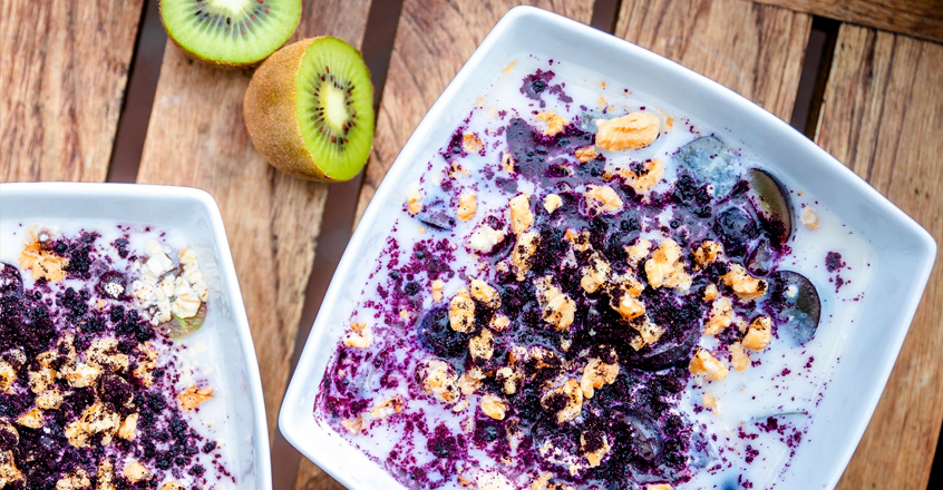
<instances>
[{"instance_id":1,"label":"green kiwi half cut off by the photo's top edge","mask_svg":"<svg viewBox=\"0 0 943 490\"><path fill-rule=\"evenodd\" d=\"M284 45L301 0L161 0L161 20L189 56L213 65L255 65Z\"/></svg>"}]
</instances>

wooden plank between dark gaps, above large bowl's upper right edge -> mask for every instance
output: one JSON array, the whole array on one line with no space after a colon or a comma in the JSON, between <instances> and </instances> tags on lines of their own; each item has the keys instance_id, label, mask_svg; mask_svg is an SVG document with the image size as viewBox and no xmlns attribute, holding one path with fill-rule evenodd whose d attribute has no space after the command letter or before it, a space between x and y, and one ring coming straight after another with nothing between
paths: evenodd
<instances>
[{"instance_id":1,"label":"wooden plank between dark gaps, above large bowl's upper right edge","mask_svg":"<svg viewBox=\"0 0 943 490\"><path fill-rule=\"evenodd\" d=\"M741 0L625 0L615 35L789 120L811 17Z\"/></svg>"}]
</instances>

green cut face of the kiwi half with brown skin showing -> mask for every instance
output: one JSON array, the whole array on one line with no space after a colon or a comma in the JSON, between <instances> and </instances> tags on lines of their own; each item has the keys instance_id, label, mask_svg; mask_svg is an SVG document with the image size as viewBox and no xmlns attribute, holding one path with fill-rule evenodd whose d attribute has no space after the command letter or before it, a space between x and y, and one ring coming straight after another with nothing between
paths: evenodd
<instances>
[{"instance_id":1,"label":"green cut face of the kiwi half with brown skin showing","mask_svg":"<svg viewBox=\"0 0 943 490\"><path fill-rule=\"evenodd\" d=\"M363 168L373 143L373 86L360 52L332 37L309 46L295 75L304 146L332 180Z\"/></svg>"}]
</instances>

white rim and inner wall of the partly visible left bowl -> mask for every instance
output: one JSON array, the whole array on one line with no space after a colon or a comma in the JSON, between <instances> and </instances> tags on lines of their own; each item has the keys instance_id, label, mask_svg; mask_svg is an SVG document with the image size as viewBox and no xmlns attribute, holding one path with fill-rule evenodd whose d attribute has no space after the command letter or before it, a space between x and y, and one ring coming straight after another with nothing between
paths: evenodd
<instances>
[{"instance_id":1,"label":"white rim and inner wall of the partly visible left bowl","mask_svg":"<svg viewBox=\"0 0 943 490\"><path fill-rule=\"evenodd\" d=\"M272 468L269 455L269 429L259 362L252 333L239 290L232 254L220 208L210 194L188 187L134 184L0 184L0 219L19 222L106 219L121 224L148 225L173 229L188 238L189 246L201 253L202 268L218 271L206 274L211 291L220 292L207 312L207 325L227 330L206 332L226 352L229 365L216 366L230 392L232 420L237 424L240 441L232 441L237 488L271 490ZM218 282L218 283L216 283ZM215 284L214 284L215 283ZM216 321L211 317L216 316ZM204 333L201 329L200 333Z\"/></svg>"}]
</instances>

